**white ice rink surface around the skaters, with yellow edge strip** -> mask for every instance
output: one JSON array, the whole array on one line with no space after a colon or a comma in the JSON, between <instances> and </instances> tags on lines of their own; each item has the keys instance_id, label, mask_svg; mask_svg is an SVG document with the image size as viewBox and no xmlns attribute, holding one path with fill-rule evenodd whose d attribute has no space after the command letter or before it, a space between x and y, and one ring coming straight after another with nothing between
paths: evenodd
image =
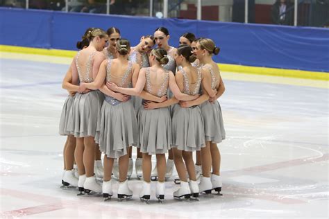
<instances>
[{"instance_id":1,"label":"white ice rink surface around the skaters, with yellow edge strip","mask_svg":"<svg viewBox=\"0 0 329 219\"><path fill-rule=\"evenodd\" d=\"M65 63L65 64L56 64ZM0 218L328 218L328 82L222 73L223 196L140 202L60 189L67 59L0 53ZM307 86L305 86L307 85ZM134 150L135 151L135 150Z\"/></svg>"}]
</instances>

